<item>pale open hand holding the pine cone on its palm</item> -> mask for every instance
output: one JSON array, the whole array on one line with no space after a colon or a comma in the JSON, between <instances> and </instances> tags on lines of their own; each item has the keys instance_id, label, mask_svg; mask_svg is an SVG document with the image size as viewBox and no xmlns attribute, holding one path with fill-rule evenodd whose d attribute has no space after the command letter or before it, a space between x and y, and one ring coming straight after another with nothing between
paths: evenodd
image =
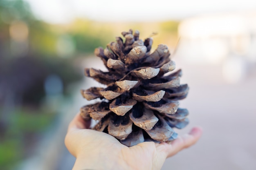
<instances>
[{"instance_id":1,"label":"pale open hand holding the pine cone on its palm","mask_svg":"<svg viewBox=\"0 0 256 170\"><path fill-rule=\"evenodd\" d=\"M90 121L85 122L79 114L68 127L65 145L76 157L72 170L160 170L166 158L192 146L202 135L202 129L194 127L171 144L143 142L127 147L89 127Z\"/></svg>"}]
</instances>

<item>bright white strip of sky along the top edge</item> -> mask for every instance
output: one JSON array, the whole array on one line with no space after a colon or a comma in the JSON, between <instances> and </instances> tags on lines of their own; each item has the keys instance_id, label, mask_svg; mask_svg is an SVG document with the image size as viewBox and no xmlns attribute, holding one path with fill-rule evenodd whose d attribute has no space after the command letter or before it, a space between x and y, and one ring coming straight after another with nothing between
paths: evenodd
<instances>
[{"instance_id":1,"label":"bright white strip of sky along the top edge","mask_svg":"<svg viewBox=\"0 0 256 170\"><path fill-rule=\"evenodd\" d=\"M26 0L47 22L179 20L203 13L256 10L256 0Z\"/></svg>"}]
</instances>

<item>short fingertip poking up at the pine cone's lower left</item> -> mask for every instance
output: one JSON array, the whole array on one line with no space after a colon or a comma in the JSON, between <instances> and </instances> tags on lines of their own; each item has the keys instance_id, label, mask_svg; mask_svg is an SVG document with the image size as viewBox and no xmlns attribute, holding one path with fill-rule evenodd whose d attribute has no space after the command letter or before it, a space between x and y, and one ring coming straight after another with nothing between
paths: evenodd
<instances>
[{"instance_id":1,"label":"short fingertip poking up at the pine cone's lower left","mask_svg":"<svg viewBox=\"0 0 256 170\"><path fill-rule=\"evenodd\" d=\"M84 121L80 113L77 113L74 119L70 122L67 131L71 129L88 129L90 128L91 121Z\"/></svg>"}]
</instances>

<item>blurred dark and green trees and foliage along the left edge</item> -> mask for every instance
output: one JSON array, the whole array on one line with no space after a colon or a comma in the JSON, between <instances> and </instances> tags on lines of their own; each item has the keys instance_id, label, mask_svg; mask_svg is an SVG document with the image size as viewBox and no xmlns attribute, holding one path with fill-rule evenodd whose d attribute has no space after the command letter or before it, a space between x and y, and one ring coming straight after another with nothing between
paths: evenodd
<instances>
[{"instance_id":1,"label":"blurred dark and green trees and foliage along the left edge","mask_svg":"<svg viewBox=\"0 0 256 170\"><path fill-rule=\"evenodd\" d=\"M47 78L56 75L66 96L82 77L71 57L57 54L61 33L52 27L26 2L0 0L0 169L13 169L51 125L56 110L41 105Z\"/></svg>"}]
</instances>

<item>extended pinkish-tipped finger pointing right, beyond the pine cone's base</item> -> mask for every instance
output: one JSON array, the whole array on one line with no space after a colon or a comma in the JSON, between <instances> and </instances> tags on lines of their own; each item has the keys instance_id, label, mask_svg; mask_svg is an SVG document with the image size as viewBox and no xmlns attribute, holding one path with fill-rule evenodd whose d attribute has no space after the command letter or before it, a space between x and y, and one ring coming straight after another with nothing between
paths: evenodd
<instances>
[{"instance_id":1,"label":"extended pinkish-tipped finger pointing right, beyond the pine cone's base","mask_svg":"<svg viewBox=\"0 0 256 170\"><path fill-rule=\"evenodd\" d=\"M183 135L175 139L171 144L166 145L167 157L175 155L184 148L188 148L195 144L202 135L202 128L194 127L189 134Z\"/></svg>"}]
</instances>

